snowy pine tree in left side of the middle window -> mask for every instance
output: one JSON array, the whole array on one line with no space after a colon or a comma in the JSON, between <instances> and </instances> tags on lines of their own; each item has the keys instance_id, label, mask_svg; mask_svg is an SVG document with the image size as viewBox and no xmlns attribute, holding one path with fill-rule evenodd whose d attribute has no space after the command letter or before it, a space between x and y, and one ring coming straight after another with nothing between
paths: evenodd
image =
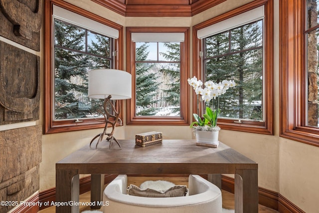
<instances>
[{"instance_id":1,"label":"snowy pine tree in left side of the middle window","mask_svg":"<svg viewBox=\"0 0 319 213\"><path fill-rule=\"evenodd\" d=\"M136 61L145 61L149 52L147 43L136 48ZM136 63L136 115L152 116L159 111L155 104L159 100L155 99L160 82L157 73L152 71L154 63Z\"/></svg>"}]
</instances>

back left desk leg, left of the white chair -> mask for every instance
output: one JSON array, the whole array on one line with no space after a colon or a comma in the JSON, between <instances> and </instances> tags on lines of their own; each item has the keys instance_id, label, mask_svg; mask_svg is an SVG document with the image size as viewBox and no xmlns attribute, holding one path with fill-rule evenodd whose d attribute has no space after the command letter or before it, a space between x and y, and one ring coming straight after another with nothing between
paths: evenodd
<instances>
[{"instance_id":1,"label":"back left desk leg, left of the white chair","mask_svg":"<svg viewBox=\"0 0 319 213\"><path fill-rule=\"evenodd\" d=\"M100 209L103 200L104 175L91 175L91 202L92 209Z\"/></svg>"}]
</instances>

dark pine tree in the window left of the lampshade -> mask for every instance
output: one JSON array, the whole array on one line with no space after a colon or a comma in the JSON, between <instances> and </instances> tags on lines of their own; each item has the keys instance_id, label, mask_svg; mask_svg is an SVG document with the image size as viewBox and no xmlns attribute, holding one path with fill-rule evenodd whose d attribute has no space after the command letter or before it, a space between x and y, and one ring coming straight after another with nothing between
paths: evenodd
<instances>
[{"instance_id":1,"label":"dark pine tree in the window left of the lampshade","mask_svg":"<svg viewBox=\"0 0 319 213\"><path fill-rule=\"evenodd\" d=\"M86 82L88 58L80 52L63 49L83 50L85 31L76 26L55 20L55 119L85 116L79 110L79 99L75 93L87 93L87 85L73 82L82 77Z\"/></svg>"}]
</instances>

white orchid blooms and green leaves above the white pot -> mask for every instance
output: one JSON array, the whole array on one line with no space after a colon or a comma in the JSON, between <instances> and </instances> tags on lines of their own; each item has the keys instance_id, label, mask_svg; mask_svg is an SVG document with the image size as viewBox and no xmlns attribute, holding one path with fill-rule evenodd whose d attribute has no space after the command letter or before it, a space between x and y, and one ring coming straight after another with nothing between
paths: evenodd
<instances>
[{"instance_id":1,"label":"white orchid blooms and green leaves above the white pot","mask_svg":"<svg viewBox=\"0 0 319 213\"><path fill-rule=\"evenodd\" d=\"M220 113L219 109L219 96L225 94L225 92L236 85L234 80L223 80L219 83L214 83L213 81L206 81L204 83L205 88L202 88L203 82L197 80L194 76L188 78L187 82L195 90L196 95L201 95L201 100L205 103L215 100L217 98L217 109L212 110L209 107L206 107L206 113L203 115L203 120L197 114L193 114L195 121L190 124L190 127L196 128L196 130L202 131L219 131L220 128L217 126L217 118Z\"/></svg>"}]
</instances>

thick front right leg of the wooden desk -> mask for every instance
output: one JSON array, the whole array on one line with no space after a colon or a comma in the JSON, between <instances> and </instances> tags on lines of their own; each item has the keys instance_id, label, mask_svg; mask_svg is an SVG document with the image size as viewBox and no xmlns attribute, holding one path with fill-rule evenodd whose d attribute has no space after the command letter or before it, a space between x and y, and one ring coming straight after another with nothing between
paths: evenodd
<instances>
[{"instance_id":1,"label":"thick front right leg of the wooden desk","mask_svg":"<svg viewBox=\"0 0 319 213\"><path fill-rule=\"evenodd\" d=\"M258 213L257 170L236 170L235 213Z\"/></svg>"}]
</instances>

